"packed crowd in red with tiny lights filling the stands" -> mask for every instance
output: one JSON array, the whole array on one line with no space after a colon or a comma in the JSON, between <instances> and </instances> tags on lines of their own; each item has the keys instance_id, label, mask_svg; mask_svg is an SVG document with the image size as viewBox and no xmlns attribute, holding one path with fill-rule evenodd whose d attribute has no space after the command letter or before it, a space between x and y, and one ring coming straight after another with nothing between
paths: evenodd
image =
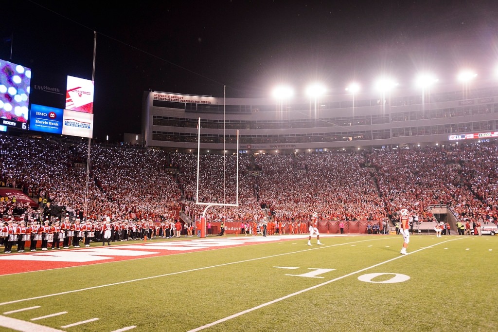
<instances>
[{"instance_id":1,"label":"packed crowd in red with tiny lights filling the stands","mask_svg":"<svg viewBox=\"0 0 498 332\"><path fill-rule=\"evenodd\" d=\"M5 221L16 214L39 221L48 216L53 222L63 217L54 214L53 208L60 207L71 221L100 223L109 217L129 225L173 222L181 211L188 224L206 208L196 204L198 199L227 204L211 207L208 220L259 222L270 215L289 224L317 212L320 220L385 221L404 207L429 221L434 204L450 206L461 220L498 219L496 142L240 154L239 170L233 155L203 155L199 179L196 154L93 145L88 158L88 149L87 144L1 135L0 187L23 191L40 208L1 197L0 216Z\"/></svg>"}]
</instances>

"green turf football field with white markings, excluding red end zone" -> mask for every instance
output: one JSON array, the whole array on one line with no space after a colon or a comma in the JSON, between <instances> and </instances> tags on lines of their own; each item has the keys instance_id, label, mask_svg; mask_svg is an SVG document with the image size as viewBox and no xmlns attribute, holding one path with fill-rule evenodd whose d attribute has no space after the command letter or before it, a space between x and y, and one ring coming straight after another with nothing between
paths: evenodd
<instances>
[{"instance_id":1,"label":"green turf football field with white markings, excluding red end zone","mask_svg":"<svg viewBox=\"0 0 498 332\"><path fill-rule=\"evenodd\" d=\"M498 236L276 239L0 276L0 331L498 331Z\"/></svg>"}]
</instances>

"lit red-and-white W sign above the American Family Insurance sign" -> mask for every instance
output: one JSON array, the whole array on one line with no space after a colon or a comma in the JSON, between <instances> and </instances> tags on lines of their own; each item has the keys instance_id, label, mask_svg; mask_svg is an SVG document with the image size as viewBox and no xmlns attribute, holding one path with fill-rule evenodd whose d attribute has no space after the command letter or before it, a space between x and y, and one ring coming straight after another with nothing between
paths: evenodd
<instances>
[{"instance_id":1,"label":"lit red-and-white W sign above the American Family Insurance sign","mask_svg":"<svg viewBox=\"0 0 498 332\"><path fill-rule=\"evenodd\" d=\"M93 114L94 81L68 76L66 110Z\"/></svg>"}]
</instances>

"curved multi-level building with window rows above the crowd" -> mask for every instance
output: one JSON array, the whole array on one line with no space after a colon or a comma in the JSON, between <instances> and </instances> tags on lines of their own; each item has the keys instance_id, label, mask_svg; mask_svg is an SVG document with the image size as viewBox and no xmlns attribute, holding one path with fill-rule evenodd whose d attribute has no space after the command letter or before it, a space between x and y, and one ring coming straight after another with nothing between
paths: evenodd
<instances>
[{"instance_id":1,"label":"curved multi-level building with window rows above the crowd","mask_svg":"<svg viewBox=\"0 0 498 332\"><path fill-rule=\"evenodd\" d=\"M497 82L286 101L149 91L142 106L145 145L181 152L234 153L237 130L239 150L280 154L490 140L497 126Z\"/></svg>"}]
</instances>

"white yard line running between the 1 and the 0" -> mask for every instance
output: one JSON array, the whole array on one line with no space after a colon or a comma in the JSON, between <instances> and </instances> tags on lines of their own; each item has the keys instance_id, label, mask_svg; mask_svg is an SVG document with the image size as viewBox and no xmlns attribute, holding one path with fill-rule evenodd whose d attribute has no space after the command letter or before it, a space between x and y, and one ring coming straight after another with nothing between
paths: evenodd
<instances>
[{"instance_id":1,"label":"white yard line running between the 1 and the 0","mask_svg":"<svg viewBox=\"0 0 498 332\"><path fill-rule=\"evenodd\" d=\"M285 300L285 299L291 298L291 297L296 296L296 295L299 295L299 294L301 294L301 293L305 293L305 292L308 292L308 291L314 290L315 288L318 288L318 287L322 287L322 286L328 285L328 284L330 284L330 283L333 283L333 282L335 282L335 281L338 281L338 280L344 279L344 278L346 278L346 277L350 277L350 276L355 275L355 274L357 274L357 273L360 273L360 272L364 272L364 271L370 270L370 269L372 269L372 268L374 268L374 267L377 267L377 266L383 265L383 264L385 264L385 263L392 262L392 261L394 261L394 260L396 260L396 259L400 259L400 258L402 258L402 257L408 257L408 256L410 256L410 255L412 255L412 254L414 254L414 253L416 253L416 252L418 252L418 251L421 251L421 250L424 250L424 249L427 249L427 248L430 248L430 247L434 247L434 246L437 246L437 245L443 244L443 243L445 243L445 242L455 241L455 240L461 240L461 239L462 239L462 238L456 238L456 239L452 239L452 240L447 240L447 241L444 241L444 242L436 243L436 244L433 244L433 245L428 246L428 247L426 247L426 248L421 248L421 249L418 249L418 250L412 251L412 252L410 252L410 253L409 253L409 255L401 255L401 256L397 256L397 257L394 257L394 258L388 259L388 260L386 260L386 261L384 261L384 262L380 262L380 263L377 263L377 264L375 264L375 265L369 266L369 267L367 267L367 268L364 268L364 269L361 269L361 270L358 270L358 271L355 271L355 272L351 272L351 273L348 273L348 274L346 274L346 275L344 275L344 276L337 277L337 278L335 278L335 279L332 279L332 280L326 281L326 282L324 282L324 283L321 283L321 284L318 284L318 285L315 285L315 286L312 286L312 287L309 287L309 288L306 288L306 289L303 289L303 290L297 291L297 292L292 293L292 294L288 294L288 295L283 296L283 297L281 297L281 298L279 298L279 299L275 299L275 300L272 300L272 301L270 301L270 302L266 302L266 303L260 304L259 306L256 306L256 307L253 307L253 308L250 308L250 309L248 309L248 310L241 311L240 313L237 313L237 314L234 314L234 315L231 315L231 316L228 316L228 317L222 318L222 319L220 319L220 320L218 320L218 321L215 321L215 322L212 322L212 323L209 323L209 324L206 324L206 325L200 326L200 327L198 327L198 328L196 328L196 329L189 330L189 331L187 331L187 332L197 332L197 331L201 331L201 330L204 330L204 329L210 328L210 327L212 327L212 326L214 326L214 325L217 325L217 324L220 324L220 323L226 322L226 321L231 320L231 319L233 319L233 318L236 318L236 317L242 316L242 315L244 315L244 314L250 313L251 311L254 311L254 310L257 310L257 309L261 309L261 308L264 308L264 307L266 307L266 306L269 306L269 305L271 305L271 304L274 304L274 303L277 303L277 302L283 301L283 300Z\"/></svg>"}]
</instances>

